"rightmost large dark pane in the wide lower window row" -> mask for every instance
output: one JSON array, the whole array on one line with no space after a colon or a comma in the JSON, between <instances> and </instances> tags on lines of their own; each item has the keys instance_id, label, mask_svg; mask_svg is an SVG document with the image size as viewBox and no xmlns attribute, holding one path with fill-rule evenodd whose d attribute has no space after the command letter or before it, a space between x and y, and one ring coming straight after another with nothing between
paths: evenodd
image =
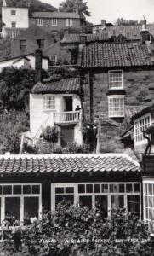
<instances>
[{"instance_id":1,"label":"rightmost large dark pane in the wide lower window row","mask_svg":"<svg viewBox=\"0 0 154 256\"><path fill-rule=\"evenodd\" d=\"M140 196L128 195L128 212L140 215Z\"/></svg>"}]
</instances>

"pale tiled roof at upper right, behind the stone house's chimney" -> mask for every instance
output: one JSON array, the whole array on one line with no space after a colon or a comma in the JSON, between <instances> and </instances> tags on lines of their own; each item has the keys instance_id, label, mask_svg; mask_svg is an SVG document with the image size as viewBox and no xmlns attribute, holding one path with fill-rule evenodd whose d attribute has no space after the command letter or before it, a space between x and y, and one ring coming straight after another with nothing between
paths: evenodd
<instances>
[{"instance_id":1,"label":"pale tiled roof at upper right, behind the stone house's chimney","mask_svg":"<svg viewBox=\"0 0 154 256\"><path fill-rule=\"evenodd\" d=\"M135 26L106 26L106 29L103 33L107 33L108 37L119 36L120 34L128 40L140 40L140 31L142 25ZM154 35L154 24L147 24L147 30Z\"/></svg>"}]
</instances>

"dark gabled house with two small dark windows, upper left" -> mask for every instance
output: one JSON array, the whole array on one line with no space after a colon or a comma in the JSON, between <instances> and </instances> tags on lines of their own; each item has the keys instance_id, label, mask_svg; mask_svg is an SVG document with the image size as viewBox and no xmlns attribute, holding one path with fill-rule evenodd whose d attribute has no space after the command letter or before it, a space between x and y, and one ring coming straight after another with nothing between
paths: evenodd
<instances>
[{"instance_id":1,"label":"dark gabled house with two small dark windows, upper left","mask_svg":"<svg viewBox=\"0 0 154 256\"><path fill-rule=\"evenodd\" d=\"M54 37L45 32L41 27L30 26L26 31L11 41L11 55L27 55L34 52L35 49L48 48L50 44L54 44Z\"/></svg>"}]
</instances>

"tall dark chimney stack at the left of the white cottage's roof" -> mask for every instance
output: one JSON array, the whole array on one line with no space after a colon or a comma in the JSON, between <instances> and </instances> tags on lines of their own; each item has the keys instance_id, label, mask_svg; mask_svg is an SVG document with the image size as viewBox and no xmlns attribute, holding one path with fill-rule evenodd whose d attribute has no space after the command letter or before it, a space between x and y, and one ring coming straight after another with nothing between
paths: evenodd
<instances>
[{"instance_id":1,"label":"tall dark chimney stack at the left of the white cottage's roof","mask_svg":"<svg viewBox=\"0 0 154 256\"><path fill-rule=\"evenodd\" d=\"M35 82L42 81L42 49L36 49L35 51Z\"/></svg>"}]
</instances>

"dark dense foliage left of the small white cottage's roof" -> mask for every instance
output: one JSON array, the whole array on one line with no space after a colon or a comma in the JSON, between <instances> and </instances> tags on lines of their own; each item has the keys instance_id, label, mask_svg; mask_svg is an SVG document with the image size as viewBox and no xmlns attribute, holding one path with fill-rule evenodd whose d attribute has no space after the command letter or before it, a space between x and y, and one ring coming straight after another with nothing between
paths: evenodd
<instances>
[{"instance_id":1,"label":"dark dense foliage left of the small white cottage's roof","mask_svg":"<svg viewBox=\"0 0 154 256\"><path fill-rule=\"evenodd\" d=\"M43 78L48 77L43 71ZM29 92L35 84L35 70L5 67L0 73L0 100L3 108L22 111L29 106Z\"/></svg>"}]
</instances>

